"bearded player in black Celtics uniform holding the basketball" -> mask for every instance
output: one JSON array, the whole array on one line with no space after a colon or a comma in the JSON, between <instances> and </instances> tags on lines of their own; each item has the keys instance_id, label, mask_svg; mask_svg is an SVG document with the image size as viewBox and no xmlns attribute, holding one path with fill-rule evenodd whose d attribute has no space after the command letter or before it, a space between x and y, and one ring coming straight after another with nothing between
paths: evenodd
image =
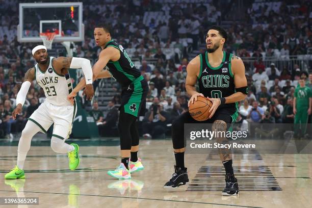
<instances>
[{"instance_id":1,"label":"bearded player in black Celtics uniform holding the basketball","mask_svg":"<svg viewBox=\"0 0 312 208\"><path fill-rule=\"evenodd\" d=\"M213 129L226 131L227 124L236 121L238 116L237 102L247 95L247 80L243 61L232 54L223 51L227 40L224 29L213 26L207 32L205 53L195 57L187 66L186 90L191 96L190 102L198 96L207 97L213 105L210 117L206 121L194 120L189 112L181 114L172 123L172 142L176 166L172 178L164 188L177 188L189 182L187 168L184 166L185 123L212 123ZM199 92L195 84L198 81ZM226 143L226 138L216 138L219 143ZM219 149L220 159L225 168L226 187L222 195L236 195L239 192L238 182L232 168L232 158L229 149Z\"/></svg>"}]
</instances>

